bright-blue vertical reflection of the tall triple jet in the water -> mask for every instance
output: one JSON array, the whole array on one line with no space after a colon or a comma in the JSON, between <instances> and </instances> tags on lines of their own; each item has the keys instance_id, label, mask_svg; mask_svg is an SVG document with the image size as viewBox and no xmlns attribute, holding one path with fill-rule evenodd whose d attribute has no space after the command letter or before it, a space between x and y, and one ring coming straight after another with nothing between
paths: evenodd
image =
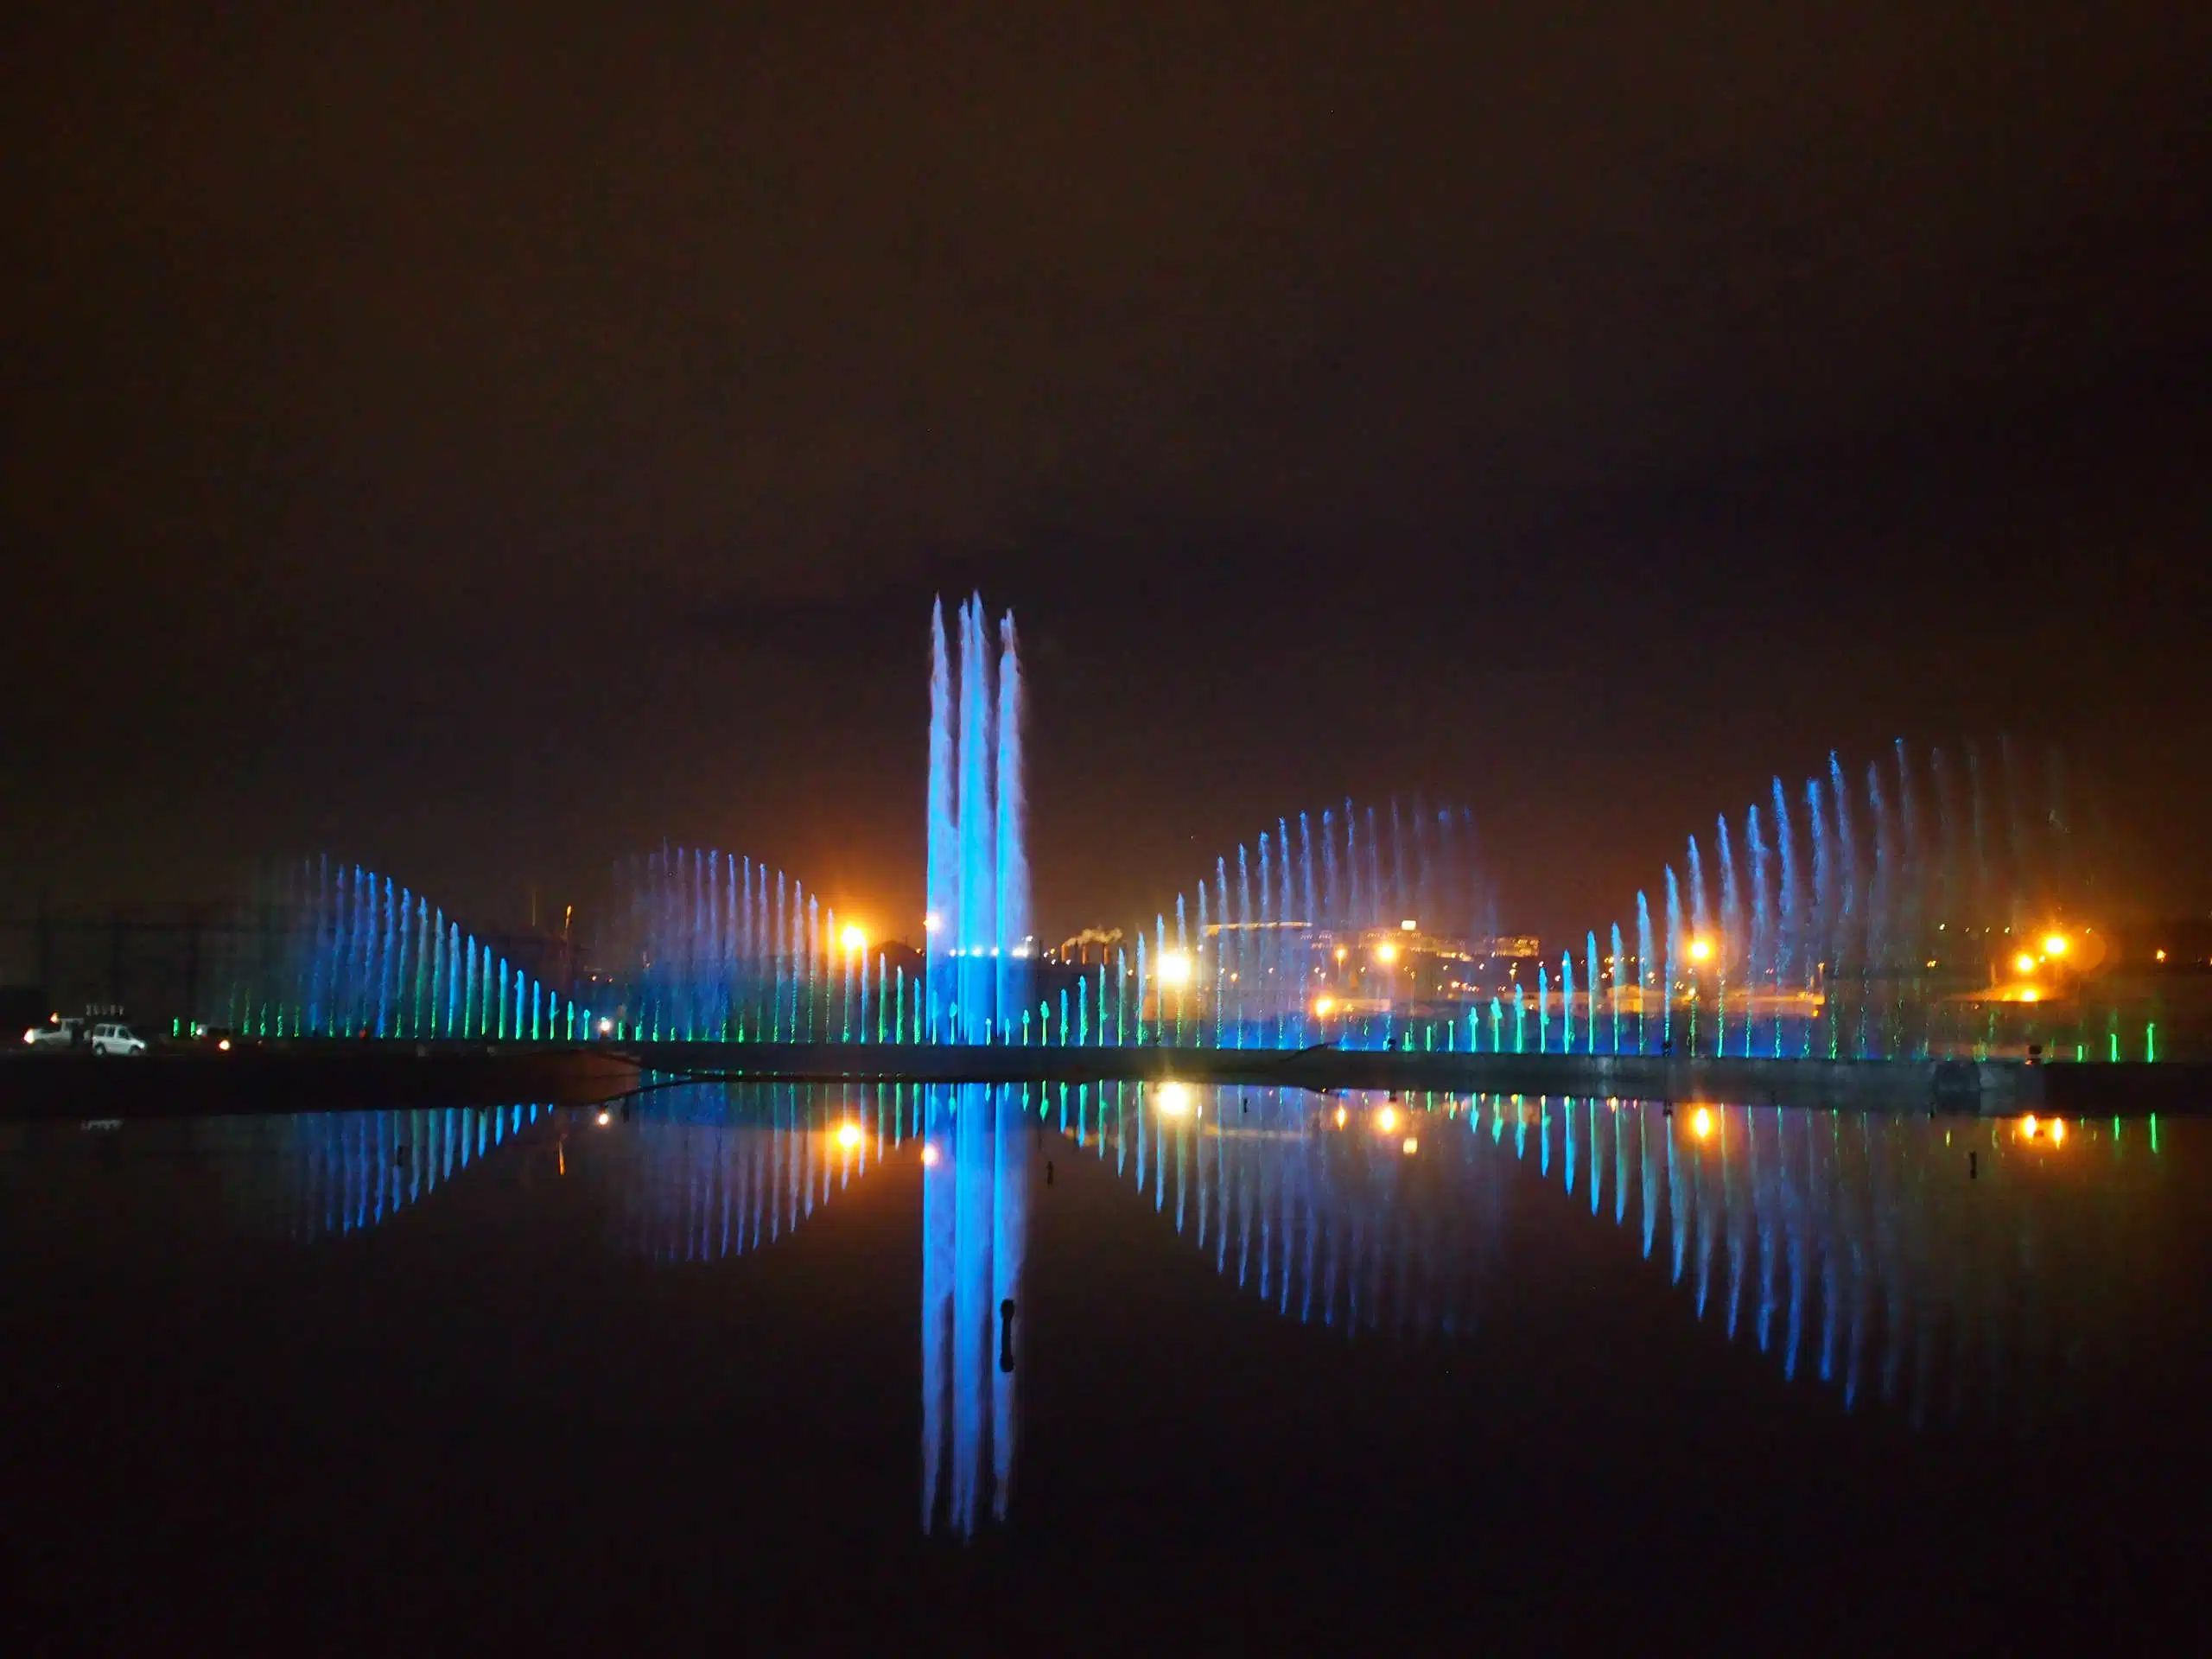
<instances>
[{"instance_id":1,"label":"bright-blue vertical reflection of the tall triple jet in the water","mask_svg":"<svg viewBox=\"0 0 2212 1659\"><path fill-rule=\"evenodd\" d=\"M922 1097L922 1528L967 1537L989 1502L1006 1517L1015 1453L1015 1343L1029 1250L1035 1121L1026 1091ZM951 1464L947 1469L947 1462Z\"/></svg>"}]
</instances>

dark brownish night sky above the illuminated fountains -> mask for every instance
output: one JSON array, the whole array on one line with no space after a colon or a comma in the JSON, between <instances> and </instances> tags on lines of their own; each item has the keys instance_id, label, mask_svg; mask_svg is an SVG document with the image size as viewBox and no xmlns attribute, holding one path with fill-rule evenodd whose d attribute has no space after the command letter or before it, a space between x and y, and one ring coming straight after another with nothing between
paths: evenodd
<instances>
[{"instance_id":1,"label":"dark brownish night sky above the illuminated fountains","mask_svg":"<svg viewBox=\"0 0 2212 1659\"><path fill-rule=\"evenodd\" d=\"M898 931L973 584L1046 929L1422 790L1579 931L2000 730L2212 902L2212 9L1504 11L11 7L0 909Z\"/></svg>"}]
</instances>

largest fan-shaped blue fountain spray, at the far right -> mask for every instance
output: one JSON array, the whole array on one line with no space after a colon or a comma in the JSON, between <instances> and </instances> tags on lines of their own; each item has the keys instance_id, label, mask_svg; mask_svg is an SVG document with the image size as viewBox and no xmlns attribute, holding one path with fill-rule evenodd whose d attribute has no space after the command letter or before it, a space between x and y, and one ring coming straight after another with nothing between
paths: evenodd
<instances>
[{"instance_id":1,"label":"largest fan-shaped blue fountain spray, at the far right","mask_svg":"<svg viewBox=\"0 0 2212 1659\"><path fill-rule=\"evenodd\" d=\"M1613 982L1615 998L1659 1013L1659 1044L1646 1020L1641 1046L1900 1060L2044 1042L2053 1057L2150 1057L2150 1031L2121 1033L2084 995L2106 940L2073 920L2097 878L2057 763L2031 779L2008 748L1995 768L1964 754L1960 776L1942 750L1916 765L1900 741L1856 787L1832 754L1796 814L1774 779L1741 838L1725 816L1714 825L1717 914L1690 836L1688 920L1668 865L1666 956L1646 942Z\"/></svg>"}]
</instances>

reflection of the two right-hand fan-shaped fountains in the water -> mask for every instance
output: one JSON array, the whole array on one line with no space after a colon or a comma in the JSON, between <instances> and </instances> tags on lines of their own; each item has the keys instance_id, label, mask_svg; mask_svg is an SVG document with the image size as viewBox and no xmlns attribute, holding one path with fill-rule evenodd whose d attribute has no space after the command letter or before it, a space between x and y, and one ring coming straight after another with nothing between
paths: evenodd
<instances>
[{"instance_id":1,"label":"reflection of the two right-hand fan-shaped fountains in the water","mask_svg":"<svg viewBox=\"0 0 2212 1659\"><path fill-rule=\"evenodd\" d=\"M1540 1270L1509 1225L1566 1199L1785 1378L1913 1425L1973 1407L2031 1427L2148 1296L2124 1263L2154 1254L2166 1214L2143 1201L2166 1177L2157 1126L2117 1119L1113 1084L1060 1110L1283 1316L1464 1336L1502 1274Z\"/></svg>"}]
</instances>

